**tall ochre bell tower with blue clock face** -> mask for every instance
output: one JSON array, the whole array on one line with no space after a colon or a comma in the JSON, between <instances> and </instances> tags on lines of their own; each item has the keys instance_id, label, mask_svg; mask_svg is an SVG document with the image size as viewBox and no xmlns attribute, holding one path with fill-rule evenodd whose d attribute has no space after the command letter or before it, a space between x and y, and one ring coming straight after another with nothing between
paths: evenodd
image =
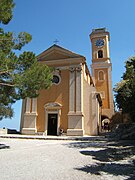
<instances>
[{"instance_id":1,"label":"tall ochre bell tower with blue clock face","mask_svg":"<svg viewBox=\"0 0 135 180\"><path fill-rule=\"evenodd\" d=\"M97 91L101 94L102 120L114 113L112 94L112 64L109 53L110 34L105 28L93 29L90 34L92 44L92 76Z\"/></svg>"}]
</instances>

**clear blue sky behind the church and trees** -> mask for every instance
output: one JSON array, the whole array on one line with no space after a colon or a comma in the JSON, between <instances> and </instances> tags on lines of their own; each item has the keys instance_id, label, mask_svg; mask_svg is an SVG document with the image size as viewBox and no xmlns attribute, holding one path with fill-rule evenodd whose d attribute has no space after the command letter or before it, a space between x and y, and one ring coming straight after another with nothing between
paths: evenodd
<instances>
[{"instance_id":1,"label":"clear blue sky behind the church and trees","mask_svg":"<svg viewBox=\"0 0 135 180\"><path fill-rule=\"evenodd\" d=\"M6 31L29 32L33 40L23 51L37 55L58 45L86 57L91 64L89 34L94 28L110 32L113 86L120 81L124 62L135 55L135 0L15 0L12 21L1 25ZM0 127L19 130L21 101L14 106L14 117L0 121Z\"/></svg>"}]
</instances>

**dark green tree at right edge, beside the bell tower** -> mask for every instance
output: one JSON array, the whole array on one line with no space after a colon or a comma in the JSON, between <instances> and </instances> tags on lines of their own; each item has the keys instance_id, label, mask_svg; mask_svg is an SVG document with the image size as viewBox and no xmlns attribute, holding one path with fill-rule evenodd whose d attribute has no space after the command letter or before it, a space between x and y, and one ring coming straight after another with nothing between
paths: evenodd
<instances>
[{"instance_id":1,"label":"dark green tree at right edge, beside the bell tower","mask_svg":"<svg viewBox=\"0 0 135 180\"><path fill-rule=\"evenodd\" d=\"M126 71L121 82L116 84L116 102L123 113L129 113L131 120L135 121L135 57L126 61Z\"/></svg>"}]
</instances>

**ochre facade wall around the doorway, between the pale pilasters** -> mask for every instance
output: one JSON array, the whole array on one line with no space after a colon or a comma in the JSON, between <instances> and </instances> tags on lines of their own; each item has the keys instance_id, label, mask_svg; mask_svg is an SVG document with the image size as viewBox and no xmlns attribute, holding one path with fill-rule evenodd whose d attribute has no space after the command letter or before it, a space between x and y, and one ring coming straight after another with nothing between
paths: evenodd
<instances>
[{"instance_id":1,"label":"ochre facade wall around the doorway, between the pale pilasters","mask_svg":"<svg viewBox=\"0 0 135 180\"><path fill-rule=\"evenodd\" d=\"M41 90L37 98L37 131L45 130L45 108L44 105L51 102L57 102L62 105L60 126L64 131L68 128L69 111L69 71L63 70L60 73L61 82L59 85L52 85L48 90Z\"/></svg>"}]
</instances>

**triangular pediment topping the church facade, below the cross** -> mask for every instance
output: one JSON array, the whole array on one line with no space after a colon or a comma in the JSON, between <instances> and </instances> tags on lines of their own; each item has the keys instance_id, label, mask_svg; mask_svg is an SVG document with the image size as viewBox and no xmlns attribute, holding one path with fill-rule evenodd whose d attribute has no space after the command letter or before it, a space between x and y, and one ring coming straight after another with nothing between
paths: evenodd
<instances>
[{"instance_id":1,"label":"triangular pediment topping the church facade, below the cross","mask_svg":"<svg viewBox=\"0 0 135 180\"><path fill-rule=\"evenodd\" d=\"M40 55L38 55L39 61L51 61L51 60L61 60L69 58L82 58L83 56L73 53L67 49L64 49L58 45L53 45ZM83 57L84 58L84 57Z\"/></svg>"}]
</instances>

